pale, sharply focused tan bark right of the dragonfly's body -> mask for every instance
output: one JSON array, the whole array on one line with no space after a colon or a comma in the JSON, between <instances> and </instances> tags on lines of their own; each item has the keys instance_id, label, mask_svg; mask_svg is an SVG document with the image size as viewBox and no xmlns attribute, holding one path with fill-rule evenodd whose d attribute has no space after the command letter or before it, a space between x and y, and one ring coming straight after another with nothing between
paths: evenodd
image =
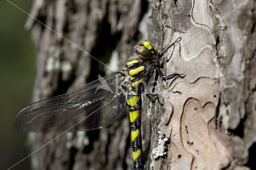
<instances>
[{"instance_id":1,"label":"pale, sharply focused tan bark right of the dragonfly's body","mask_svg":"<svg viewBox=\"0 0 256 170\"><path fill-rule=\"evenodd\" d=\"M158 79L165 105L152 109L150 168L255 168L256 4L244 2L154 3L160 44L182 37L166 74L186 77Z\"/></svg>"}]
</instances>

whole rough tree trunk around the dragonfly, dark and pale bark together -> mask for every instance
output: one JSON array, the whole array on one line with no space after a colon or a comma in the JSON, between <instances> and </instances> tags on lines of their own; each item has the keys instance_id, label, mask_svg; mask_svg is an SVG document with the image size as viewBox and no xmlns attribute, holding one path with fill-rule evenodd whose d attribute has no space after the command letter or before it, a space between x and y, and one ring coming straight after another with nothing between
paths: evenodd
<instances>
[{"instance_id":1,"label":"whole rough tree trunk around the dragonfly, dark and pale bark together","mask_svg":"<svg viewBox=\"0 0 256 170\"><path fill-rule=\"evenodd\" d=\"M158 79L156 93L164 106L155 103L149 109L144 103L145 169L244 169L230 158L251 168L254 164L256 3L242 3L34 0L31 15L114 71L134 56L132 47L139 40L156 35L161 51L180 36L172 58L170 49L160 66L165 75L186 77ZM37 52L33 101L110 73L46 26L33 18L26 22ZM30 133L29 152L59 134ZM32 169L132 169L130 140L128 117L98 130L65 133L30 157Z\"/></svg>"}]
</instances>

